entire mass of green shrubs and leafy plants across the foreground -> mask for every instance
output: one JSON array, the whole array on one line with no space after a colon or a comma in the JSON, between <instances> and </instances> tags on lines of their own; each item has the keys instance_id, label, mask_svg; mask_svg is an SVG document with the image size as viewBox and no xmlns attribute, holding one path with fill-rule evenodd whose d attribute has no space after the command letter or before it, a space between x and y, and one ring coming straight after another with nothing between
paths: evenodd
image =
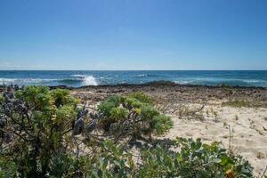
<instances>
[{"instance_id":1,"label":"entire mass of green shrubs and leafy plants across the foreground","mask_svg":"<svg viewBox=\"0 0 267 178\"><path fill-rule=\"evenodd\" d=\"M143 93L92 108L68 90L10 85L0 105L0 177L253 176L218 142L157 139L174 124Z\"/></svg>"}]
</instances>

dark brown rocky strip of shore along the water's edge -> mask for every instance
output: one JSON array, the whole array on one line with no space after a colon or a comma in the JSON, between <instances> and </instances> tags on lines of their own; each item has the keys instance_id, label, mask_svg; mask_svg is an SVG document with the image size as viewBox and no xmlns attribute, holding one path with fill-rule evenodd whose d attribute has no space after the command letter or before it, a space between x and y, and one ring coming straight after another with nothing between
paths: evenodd
<instances>
[{"instance_id":1,"label":"dark brown rocky strip of shore along the water's edge","mask_svg":"<svg viewBox=\"0 0 267 178\"><path fill-rule=\"evenodd\" d=\"M205 104L211 101L238 100L250 101L252 105L267 108L267 88L263 87L178 85L172 82L154 82L142 85L97 85L80 88L52 86L51 88L58 87L70 89L77 97L88 101L101 101L113 94L142 92L168 104L177 102Z\"/></svg>"}]
</instances>

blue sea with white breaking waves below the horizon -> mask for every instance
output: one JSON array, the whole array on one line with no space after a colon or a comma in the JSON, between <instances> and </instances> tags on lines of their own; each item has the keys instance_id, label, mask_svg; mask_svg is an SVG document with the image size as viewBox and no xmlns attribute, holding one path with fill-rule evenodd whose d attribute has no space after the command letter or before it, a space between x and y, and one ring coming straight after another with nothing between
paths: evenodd
<instances>
[{"instance_id":1,"label":"blue sea with white breaking waves below the horizon","mask_svg":"<svg viewBox=\"0 0 267 178\"><path fill-rule=\"evenodd\" d=\"M240 85L267 87L267 70L138 70L138 71L0 71L0 83L9 85L117 85L173 81L182 85Z\"/></svg>"}]
</instances>

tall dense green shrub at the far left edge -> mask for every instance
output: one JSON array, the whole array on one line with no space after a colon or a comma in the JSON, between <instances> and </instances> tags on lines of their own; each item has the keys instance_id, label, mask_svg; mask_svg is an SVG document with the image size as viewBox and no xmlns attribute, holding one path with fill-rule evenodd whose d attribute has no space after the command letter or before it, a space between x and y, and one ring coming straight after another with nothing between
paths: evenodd
<instances>
[{"instance_id":1,"label":"tall dense green shrub at the far left edge","mask_svg":"<svg viewBox=\"0 0 267 178\"><path fill-rule=\"evenodd\" d=\"M44 176L53 152L65 149L64 136L77 117L77 100L68 91L45 86L8 86L2 98L2 158L12 155L9 161L16 163L21 176Z\"/></svg>"}]
</instances>

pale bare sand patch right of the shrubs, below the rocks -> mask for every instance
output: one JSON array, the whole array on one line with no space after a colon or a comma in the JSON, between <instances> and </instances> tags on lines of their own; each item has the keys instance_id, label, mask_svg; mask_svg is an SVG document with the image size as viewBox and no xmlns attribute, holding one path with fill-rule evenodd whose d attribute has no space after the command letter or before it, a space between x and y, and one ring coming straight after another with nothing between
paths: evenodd
<instances>
[{"instance_id":1,"label":"pale bare sand patch right of the shrubs, below the rocks","mask_svg":"<svg viewBox=\"0 0 267 178\"><path fill-rule=\"evenodd\" d=\"M165 137L201 138L203 142L222 142L228 149L230 125L231 150L248 159L255 167L255 175L262 174L267 166L267 109L209 105L203 111L204 121L173 115L174 128Z\"/></svg>"}]
</instances>

